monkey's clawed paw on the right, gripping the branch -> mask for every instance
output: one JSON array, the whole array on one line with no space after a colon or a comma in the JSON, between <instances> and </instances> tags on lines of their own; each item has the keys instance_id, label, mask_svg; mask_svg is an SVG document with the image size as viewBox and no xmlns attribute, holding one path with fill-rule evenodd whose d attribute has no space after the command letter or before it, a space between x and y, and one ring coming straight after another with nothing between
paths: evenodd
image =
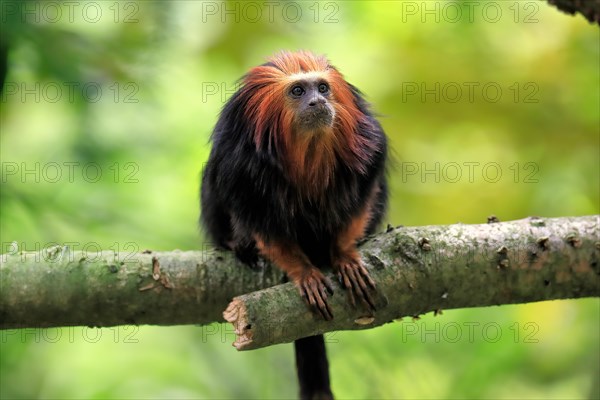
<instances>
[{"instance_id":1,"label":"monkey's clawed paw on the right, gripping the branch","mask_svg":"<svg viewBox=\"0 0 600 400\"><path fill-rule=\"evenodd\" d=\"M334 264L341 283L348 291L350 303L356 306L358 297L369 309L375 311L375 302L370 291L375 288L375 281L363 265L358 252L344 255Z\"/></svg>"}]
</instances>

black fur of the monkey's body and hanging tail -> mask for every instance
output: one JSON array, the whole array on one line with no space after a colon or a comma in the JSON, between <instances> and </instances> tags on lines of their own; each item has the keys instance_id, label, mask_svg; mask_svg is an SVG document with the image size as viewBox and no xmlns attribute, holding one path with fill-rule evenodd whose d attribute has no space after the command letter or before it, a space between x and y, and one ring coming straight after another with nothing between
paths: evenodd
<instances>
[{"instance_id":1,"label":"black fur of the monkey's body and hanging tail","mask_svg":"<svg viewBox=\"0 0 600 400\"><path fill-rule=\"evenodd\" d=\"M317 267L331 266L331 246L363 209L374 185L380 190L367 233L379 224L387 203L385 134L358 89L354 101L366 118L357 134L374 144L361 174L338 159L332 184L320 202L309 200L290 182L277 148L263 135L257 151L255 123L245 115L251 90L241 88L223 108L212 134L213 147L204 167L201 223L215 244L232 249L246 263L256 260L254 233L265 240L298 243ZM285 134L285 132L283 133ZM302 398L332 398L322 336L296 342Z\"/></svg>"}]
</instances>

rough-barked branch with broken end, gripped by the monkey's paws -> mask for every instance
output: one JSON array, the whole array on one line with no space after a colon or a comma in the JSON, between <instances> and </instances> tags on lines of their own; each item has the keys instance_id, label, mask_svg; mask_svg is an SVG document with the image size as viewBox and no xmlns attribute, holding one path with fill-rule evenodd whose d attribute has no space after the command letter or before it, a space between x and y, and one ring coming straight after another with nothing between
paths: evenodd
<instances>
[{"instance_id":1,"label":"rough-barked branch with broken end, gripped by the monkey's paws","mask_svg":"<svg viewBox=\"0 0 600 400\"><path fill-rule=\"evenodd\" d=\"M238 350L405 316L600 295L599 217L395 229L361 247L377 282L377 311L349 307L336 286L333 321L306 311L291 284L236 297L224 313Z\"/></svg>"}]
</instances>

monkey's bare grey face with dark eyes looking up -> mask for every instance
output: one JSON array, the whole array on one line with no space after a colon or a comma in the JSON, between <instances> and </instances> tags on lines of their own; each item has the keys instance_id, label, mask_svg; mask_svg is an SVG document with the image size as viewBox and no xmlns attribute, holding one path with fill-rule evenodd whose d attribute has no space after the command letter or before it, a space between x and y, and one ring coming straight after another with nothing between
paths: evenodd
<instances>
[{"instance_id":1,"label":"monkey's bare grey face with dark eyes looking up","mask_svg":"<svg viewBox=\"0 0 600 400\"><path fill-rule=\"evenodd\" d=\"M329 83L322 76L306 75L289 86L287 96L295 110L294 122L303 131L329 128L335 118Z\"/></svg>"}]
</instances>

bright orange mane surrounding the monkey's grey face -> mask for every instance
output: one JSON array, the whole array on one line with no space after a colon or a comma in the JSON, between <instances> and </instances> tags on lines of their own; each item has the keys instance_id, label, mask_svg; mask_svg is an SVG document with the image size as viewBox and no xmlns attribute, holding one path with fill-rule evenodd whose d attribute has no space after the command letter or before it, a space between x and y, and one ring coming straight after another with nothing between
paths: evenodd
<instances>
[{"instance_id":1,"label":"bright orange mane surrounding the monkey's grey face","mask_svg":"<svg viewBox=\"0 0 600 400\"><path fill-rule=\"evenodd\" d=\"M317 197L332 183L339 162L365 171L370 143L357 133L368 124L358 108L350 85L324 56L307 51L282 52L255 67L244 78L248 94L246 117L254 123L257 149L267 140L268 150L281 155L286 174L302 193ZM329 83L335 110L333 127L300 135L294 127L294 110L287 97L299 74L318 74Z\"/></svg>"}]
</instances>

